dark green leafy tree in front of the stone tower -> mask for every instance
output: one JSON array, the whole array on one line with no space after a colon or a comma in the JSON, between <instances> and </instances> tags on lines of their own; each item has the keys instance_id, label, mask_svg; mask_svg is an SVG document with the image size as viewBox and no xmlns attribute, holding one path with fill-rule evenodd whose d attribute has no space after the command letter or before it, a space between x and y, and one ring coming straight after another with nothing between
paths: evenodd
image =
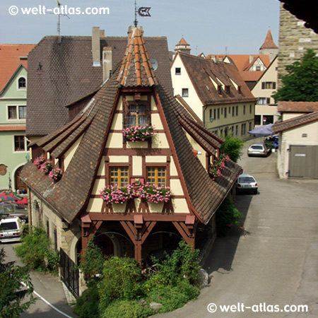
<instances>
[{"instance_id":1,"label":"dark green leafy tree in front of the stone tower","mask_svg":"<svg viewBox=\"0 0 318 318\"><path fill-rule=\"evenodd\" d=\"M316 102L318 100L318 57L312 49L299 61L285 67L283 87L271 95L276 101Z\"/></svg>"}]
</instances>

